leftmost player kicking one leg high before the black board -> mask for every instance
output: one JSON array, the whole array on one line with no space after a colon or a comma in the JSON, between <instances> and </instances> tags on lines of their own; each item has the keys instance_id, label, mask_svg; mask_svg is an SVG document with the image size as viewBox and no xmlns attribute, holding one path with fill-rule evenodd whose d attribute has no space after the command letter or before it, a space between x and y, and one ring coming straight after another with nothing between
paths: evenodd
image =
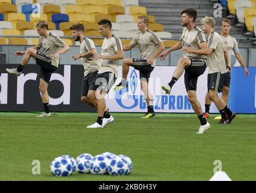
<instances>
[{"instance_id":1,"label":"leftmost player kicking one leg high before the black board","mask_svg":"<svg viewBox=\"0 0 256 193\"><path fill-rule=\"evenodd\" d=\"M48 24L45 21L39 21L36 24L36 30L39 37L38 45L28 48L26 51L16 51L15 56L24 55L21 60L21 65L18 68L6 69L9 74L21 75L22 70L27 65L30 57L36 60L36 64L41 66L39 90L41 92L42 103L44 103L44 112L37 116L39 118L51 116L49 109L48 84L51 74L58 68L59 55L70 50L70 46L63 42L58 36L48 31ZM42 54L39 49L43 48L45 54Z\"/></svg>"}]
</instances>

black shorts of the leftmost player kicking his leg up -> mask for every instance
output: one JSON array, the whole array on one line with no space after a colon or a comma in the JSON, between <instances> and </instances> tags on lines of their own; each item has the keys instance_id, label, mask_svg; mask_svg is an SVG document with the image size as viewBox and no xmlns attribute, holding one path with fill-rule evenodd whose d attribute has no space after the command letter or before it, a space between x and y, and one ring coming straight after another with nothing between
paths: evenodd
<instances>
[{"instance_id":1,"label":"black shorts of the leftmost player kicking his leg up","mask_svg":"<svg viewBox=\"0 0 256 193\"><path fill-rule=\"evenodd\" d=\"M51 74L56 71L57 67L51 65L51 59L39 51L36 52L36 64L41 66L40 78L49 84Z\"/></svg>"}]
</instances>

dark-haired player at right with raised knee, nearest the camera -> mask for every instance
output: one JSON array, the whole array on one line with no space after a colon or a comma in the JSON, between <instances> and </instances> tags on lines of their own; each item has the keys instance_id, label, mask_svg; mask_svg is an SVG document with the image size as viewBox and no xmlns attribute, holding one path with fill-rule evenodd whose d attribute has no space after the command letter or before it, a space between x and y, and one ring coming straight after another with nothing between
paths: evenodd
<instances>
[{"instance_id":1,"label":"dark-haired player at right with raised knee, nearest the camera","mask_svg":"<svg viewBox=\"0 0 256 193\"><path fill-rule=\"evenodd\" d=\"M169 48L159 57L161 60L165 60L166 55L169 52L175 51L177 49L185 50L186 48L192 49L206 49L206 37L205 33L195 25L195 19L197 18L197 11L193 8L188 8L182 11L181 24L183 27L182 36L180 41L176 45ZM188 93L188 100L192 104L194 112L197 114L200 121L200 128L198 133L203 133L205 130L211 127L209 122L203 117L202 107L197 100L196 90L197 90L197 79L200 75L205 72L206 69L206 55L193 54L183 52L184 57L178 62L177 68L172 75L172 79L168 84L163 84L162 89L165 90L166 94L171 93L172 86L176 81L182 76L185 70L185 87Z\"/></svg>"}]
</instances>

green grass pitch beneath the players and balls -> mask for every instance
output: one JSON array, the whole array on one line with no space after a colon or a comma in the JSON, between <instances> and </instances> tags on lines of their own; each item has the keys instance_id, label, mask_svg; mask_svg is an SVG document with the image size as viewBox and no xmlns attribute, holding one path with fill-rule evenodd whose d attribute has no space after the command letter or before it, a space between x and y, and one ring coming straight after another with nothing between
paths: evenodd
<instances>
[{"instance_id":1,"label":"green grass pitch beneath the players and balls","mask_svg":"<svg viewBox=\"0 0 256 193\"><path fill-rule=\"evenodd\" d=\"M111 113L114 123L87 129L96 113L56 113L35 118L35 113L0 113L0 180L209 180L214 160L232 180L256 180L256 116L237 115L220 125L211 115L211 129L196 134L194 114L160 114L141 119L142 113ZM51 161L63 154L93 156L110 151L133 160L128 176L74 174L54 177ZM41 174L33 175L33 160Z\"/></svg>"}]
</instances>

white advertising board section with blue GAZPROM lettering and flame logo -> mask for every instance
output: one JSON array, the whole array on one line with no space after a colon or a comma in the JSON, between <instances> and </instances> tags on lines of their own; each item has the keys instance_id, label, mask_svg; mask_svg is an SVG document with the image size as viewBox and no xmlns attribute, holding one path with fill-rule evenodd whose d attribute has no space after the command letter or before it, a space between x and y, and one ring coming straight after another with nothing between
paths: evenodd
<instances>
[{"instance_id":1,"label":"white advertising board section with blue GAZPROM lettering and flame logo","mask_svg":"<svg viewBox=\"0 0 256 193\"><path fill-rule=\"evenodd\" d=\"M166 95L161 86L163 83L169 83L176 66L157 66L151 73L149 80L149 89L153 96L153 106L156 112L171 113L192 113L191 103L189 103L186 93L184 77L177 81L172 87L171 95ZM119 83L122 77L122 68L119 68ZM127 77L128 87L119 91L111 89L106 97L107 106L114 112L146 112L146 100L140 89L139 71L130 67ZM199 77L197 84L197 97L205 109L205 95L207 92L207 72ZM115 98L115 100L113 100ZM218 112L214 104L211 112Z\"/></svg>"}]
</instances>

